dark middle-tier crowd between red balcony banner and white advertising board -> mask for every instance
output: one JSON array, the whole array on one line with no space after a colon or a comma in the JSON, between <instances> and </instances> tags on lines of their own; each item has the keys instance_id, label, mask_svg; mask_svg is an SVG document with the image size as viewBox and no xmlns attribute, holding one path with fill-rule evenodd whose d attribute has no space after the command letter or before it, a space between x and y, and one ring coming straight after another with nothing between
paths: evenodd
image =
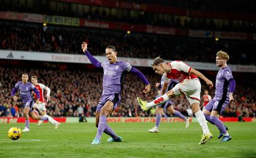
<instances>
[{"instance_id":1,"label":"dark middle-tier crowd between red balcony banner and white advertising board","mask_svg":"<svg viewBox=\"0 0 256 158\"><path fill-rule=\"evenodd\" d=\"M0 21L0 35L0 49L82 54L80 45L87 41L88 51L98 56L105 56L106 46L114 45L121 57L153 59L161 56L169 60L215 62L216 52L223 50L230 56L229 63L255 65L254 40L215 41L7 21Z\"/></svg>"}]
</instances>

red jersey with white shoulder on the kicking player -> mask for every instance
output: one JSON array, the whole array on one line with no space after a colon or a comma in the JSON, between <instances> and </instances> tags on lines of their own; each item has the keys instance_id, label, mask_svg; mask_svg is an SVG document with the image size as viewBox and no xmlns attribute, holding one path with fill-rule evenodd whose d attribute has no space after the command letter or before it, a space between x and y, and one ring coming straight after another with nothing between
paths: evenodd
<instances>
[{"instance_id":1,"label":"red jersey with white shoulder on the kicking player","mask_svg":"<svg viewBox=\"0 0 256 158\"><path fill-rule=\"evenodd\" d=\"M176 60L173 62L169 62L168 65L171 67L171 71L166 73L166 77L164 82L169 83L170 79L174 79L182 83L184 80L191 80L194 78L198 78L197 75L190 73L192 67L185 64L182 61Z\"/></svg>"}]
</instances>

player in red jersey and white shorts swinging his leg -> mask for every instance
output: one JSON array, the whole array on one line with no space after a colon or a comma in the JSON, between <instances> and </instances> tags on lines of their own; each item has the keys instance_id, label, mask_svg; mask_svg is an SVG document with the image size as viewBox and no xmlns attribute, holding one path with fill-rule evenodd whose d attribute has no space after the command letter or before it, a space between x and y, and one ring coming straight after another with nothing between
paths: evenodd
<instances>
[{"instance_id":1,"label":"player in red jersey and white shorts swinging his leg","mask_svg":"<svg viewBox=\"0 0 256 158\"><path fill-rule=\"evenodd\" d=\"M204 80L210 87L213 87L212 81L208 80L208 78L206 78L202 73L179 60L165 63L163 59L157 57L152 66L158 75L164 75L163 87L167 87L171 79L177 80L179 83L174 86L173 89L169 90L163 96L156 98L152 102L142 101L142 99L138 97L137 99L140 107L142 107L143 110L147 110L150 107L169 101L169 99L174 96L184 94L189 100L195 117L197 117L197 121L203 130L202 139L198 144L205 144L208 140L213 138L213 135L208 129L205 115L203 115L202 110L200 110L201 83L198 80L198 77Z\"/></svg>"}]
</instances>

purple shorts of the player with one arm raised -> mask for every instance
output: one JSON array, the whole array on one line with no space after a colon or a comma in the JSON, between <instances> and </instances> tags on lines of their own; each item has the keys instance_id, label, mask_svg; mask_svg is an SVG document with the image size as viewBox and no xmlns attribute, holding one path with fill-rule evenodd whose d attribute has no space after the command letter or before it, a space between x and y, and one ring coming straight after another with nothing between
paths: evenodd
<instances>
[{"instance_id":1,"label":"purple shorts of the player with one arm raised","mask_svg":"<svg viewBox=\"0 0 256 158\"><path fill-rule=\"evenodd\" d=\"M114 109L116 109L116 107L118 106L118 104L121 101L121 97L117 93L101 96L100 102L98 103L96 111L100 112L101 108L106 104L107 101L113 102Z\"/></svg>"}]
</instances>

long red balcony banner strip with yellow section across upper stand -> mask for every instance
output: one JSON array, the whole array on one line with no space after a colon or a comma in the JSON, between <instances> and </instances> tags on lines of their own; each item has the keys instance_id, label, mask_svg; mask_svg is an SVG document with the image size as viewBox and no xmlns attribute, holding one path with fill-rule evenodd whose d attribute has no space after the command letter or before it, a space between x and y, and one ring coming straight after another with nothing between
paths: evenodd
<instances>
[{"instance_id":1,"label":"long red balcony banner strip with yellow section across upper stand","mask_svg":"<svg viewBox=\"0 0 256 158\"><path fill-rule=\"evenodd\" d=\"M17 13L17 12L0 12L0 19L8 20L22 20L26 22L46 22L56 25L70 25L77 27L95 27L105 28L111 30L124 30L131 32L145 32L145 33L158 33L165 35L176 35L176 36L190 36L199 38L212 38L213 36L223 39L254 39L256 40L255 34L247 34L241 32L226 32L226 31L207 31L207 30L187 30L180 28L170 27L158 27L152 25L132 25L126 22L107 22L99 20L85 20L72 17L62 16L51 16L51 15L40 15L40 14L28 14L28 13Z\"/></svg>"}]
</instances>

